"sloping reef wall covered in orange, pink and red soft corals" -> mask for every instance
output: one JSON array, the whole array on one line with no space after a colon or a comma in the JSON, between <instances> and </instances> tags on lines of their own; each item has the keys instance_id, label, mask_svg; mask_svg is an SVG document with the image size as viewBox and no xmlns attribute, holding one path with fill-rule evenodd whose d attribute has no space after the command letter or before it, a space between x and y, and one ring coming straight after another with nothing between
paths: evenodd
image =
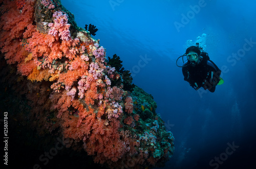
<instances>
[{"instance_id":1,"label":"sloping reef wall covered in orange, pink and red soft corals","mask_svg":"<svg viewBox=\"0 0 256 169\"><path fill-rule=\"evenodd\" d=\"M29 100L20 120L111 168L162 166L172 156L174 137L153 97L124 87L129 74L106 61L99 40L60 1L0 5L2 81Z\"/></svg>"}]
</instances>

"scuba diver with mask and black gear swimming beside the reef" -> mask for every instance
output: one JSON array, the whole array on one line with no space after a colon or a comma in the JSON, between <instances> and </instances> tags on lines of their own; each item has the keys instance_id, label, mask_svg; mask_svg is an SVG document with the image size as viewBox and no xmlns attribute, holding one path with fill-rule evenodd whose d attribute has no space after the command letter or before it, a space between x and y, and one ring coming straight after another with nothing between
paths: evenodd
<instances>
[{"instance_id":1,"label":"scuba diver with mask and black gear swimming beside the reef","mask_svg":"<svg viewBox=\"0 0 256 169\"><path fill-rule=\"evenodd\" d=\"M196 46L190 46L186 49L186 53L180 56L176 65L182 67L184 80L187 81L191 87L198 90L203 87L210 92L214 92L217 84L223 84L224 81L220 78L221 70L212 62L206 52L201 52L203 49ZM184 62L183 57L186 56L187 60ZM183 65L177 64L178 60L182 57Z\"/></svg>"}]
</instances>

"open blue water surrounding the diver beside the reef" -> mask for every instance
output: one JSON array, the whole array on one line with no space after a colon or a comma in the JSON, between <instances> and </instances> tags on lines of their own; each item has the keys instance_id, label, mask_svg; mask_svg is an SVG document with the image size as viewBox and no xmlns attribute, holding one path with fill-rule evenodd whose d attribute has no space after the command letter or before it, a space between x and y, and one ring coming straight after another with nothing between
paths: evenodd
<instances>
[{"instance_id":1,"label":"open blue water surrounding the diver beside the reef","mask_svg":"<svg viewBox=\"0 0 256 169\"><path fill-rule=\"evenodd\" d=\"M79 27L96 26L106 55L154 96L175 137L164 168L250 168L256 141L256 1L62 0ZM176 59L200 41L222 69L214 93L183 80ZM254 164L255 165L255 164Z\"/></svg>"}]
</instances>

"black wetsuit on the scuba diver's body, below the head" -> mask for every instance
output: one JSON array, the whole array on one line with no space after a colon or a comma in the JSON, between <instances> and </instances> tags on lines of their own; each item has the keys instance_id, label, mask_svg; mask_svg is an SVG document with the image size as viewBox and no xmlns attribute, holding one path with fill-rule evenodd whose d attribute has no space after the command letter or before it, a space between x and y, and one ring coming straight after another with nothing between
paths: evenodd
<instances>
[{"instance_id":1,"label":"black wetsuit on the scuba diver's body, below the head","mask_svg":"<svg viewBox=\"0 0 256 169\"><path fill-rule=\"evenodd\" d=\"M211 60L205 58L199 64L193 66L190 61L186 61L182 67L184 80L196 90L203 87L210 92L215 91L216 85L220 81L221 70ZM197 84L197 85L196 85Z\"/></svg>"}]
</instances>

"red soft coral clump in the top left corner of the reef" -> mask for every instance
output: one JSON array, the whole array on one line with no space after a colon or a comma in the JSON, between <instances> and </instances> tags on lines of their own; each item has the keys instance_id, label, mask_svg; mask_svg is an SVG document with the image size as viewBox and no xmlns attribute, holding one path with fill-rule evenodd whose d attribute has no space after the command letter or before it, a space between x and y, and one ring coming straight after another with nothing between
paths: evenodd
<instances>
[{"instance_id":1,"label":"red soft coral clump in the top left corner of the reef","mask_svg":"<svg viewBox=\"0 0 256 169\"><path fill-rule=\"evenodd\" d=\"M23 33L27 29L31 30L28 27L33 22L34 16L34 1L26 1L22 12L17 9L16 2L4 2L3 8L6 9L6 12L2 14L0 22L0 47L9 64L23 61L24 52L20 41L23 38ZM25 37L27 38L28 35Z\"/></svg>"}]
</instances>

